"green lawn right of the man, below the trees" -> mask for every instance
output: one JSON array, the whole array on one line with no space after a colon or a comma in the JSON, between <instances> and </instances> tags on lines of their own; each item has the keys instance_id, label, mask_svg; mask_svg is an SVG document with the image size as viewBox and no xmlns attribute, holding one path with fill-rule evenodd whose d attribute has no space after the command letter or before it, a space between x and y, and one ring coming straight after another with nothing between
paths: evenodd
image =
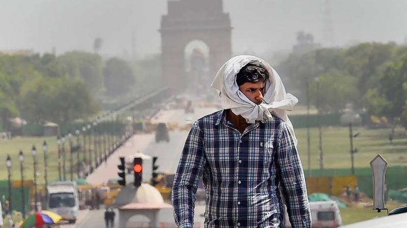
<instances>
[{"instance_id":1,"label":"green lawn right of the man, below the trees","mask_svg":"<svg viewBox=\"0 0 407 228\"><path fill-rule=\"evenodd\" d=\"M353 132L360 132L354 138L355 167L370 167L369 162L381 154L388 165L407 165L407 136L404 129L396 129L393 143L389 142L390 129L367 129L354 127ZM311 168L319 168L318 129L311 128ZM298 150L304 169L308 168L307 158L307 130L296 129ZM402 135L399 135L402 134ZM351 168L350 139L347 127L322 128L322 148L324 154L324 168Z\"/></svg>"}]
</instances>

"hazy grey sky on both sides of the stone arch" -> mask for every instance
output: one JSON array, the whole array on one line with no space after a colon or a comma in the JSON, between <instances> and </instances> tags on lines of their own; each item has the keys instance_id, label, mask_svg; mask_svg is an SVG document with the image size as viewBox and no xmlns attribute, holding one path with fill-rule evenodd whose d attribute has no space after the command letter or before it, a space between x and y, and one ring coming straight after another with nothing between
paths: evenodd
<instances>
[{"instance_id":1,"label":"hazy grey sky on both sides of the stone arch","mask_svg":"<svg viewBox=\"0 0 407 228\"><path fill-rule=\"evenodd\" d=\"M298 31L323 42L325 2L224 0L234 27L232 51L290 50ZM331 0L330 9L335 45L402 43L407 35L405 0ZM158 30L166 13L166 0L0 0L0 50L92 51L94 39L101 37L102 54L122 55L131 52L134 31L138 56L159 53Z\"/></svg>"}]
</instances>

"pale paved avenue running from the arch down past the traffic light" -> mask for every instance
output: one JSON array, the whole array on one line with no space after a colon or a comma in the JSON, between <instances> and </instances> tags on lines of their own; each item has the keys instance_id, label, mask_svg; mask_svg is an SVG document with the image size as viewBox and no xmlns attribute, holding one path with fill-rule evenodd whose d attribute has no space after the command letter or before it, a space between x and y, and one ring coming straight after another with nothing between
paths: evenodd
<instances>
[{"instance_id":1,"label":"pale paved avenue running from the arch down past the traffic light","mask_svg":"<svg viewBox=\"0 0 407 228\"><path fill-rule=\"evenodd\" d=\"M153 118L153 122L176 122L183 125L185 124L186 117L195 121L214 111L216 111L214 108L196 108L194 113L186 114L183 109L161 110L157 113L156 117ZM188 131L170 131L170 140L168 143L164 141L155 143L153 140L154 134L133 135L123 147L108 158L106 163L99 166L87 180L92 184L99 184L106 182L108 179L117 178L119 157L132 155L138 151L147 155L158 156L157 164L159 165L159 170L176 172L187 135ZM204 206L197 205L195 221L200 224L203 224L203 218L200 217L203 212L205 212ZM80 216L75 225L64 225L62 227L103 228L105 226L103 217L104 210L80 211ZM159 217L162 222L172 222L172 210L162 210ZM142 221L148 222L147 218L134 216L127 226L131 227L132 223ZM118 221L116 221L115 224L119 224Z\"/></svg>"}]
</instances>

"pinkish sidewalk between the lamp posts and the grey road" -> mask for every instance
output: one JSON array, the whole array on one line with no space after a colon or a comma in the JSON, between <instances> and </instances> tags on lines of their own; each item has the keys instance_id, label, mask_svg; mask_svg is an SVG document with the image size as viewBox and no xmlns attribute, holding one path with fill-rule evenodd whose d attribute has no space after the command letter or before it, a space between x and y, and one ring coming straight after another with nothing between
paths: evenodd
<instances>
[{"instance_id":1,"label":"pinkish sidewalk between the lamp posts and the grey road","mask_svg":"<svg viewBox=\"0 0 407 228\"><path fill-rule=\"evenodd\" d=\"M122 147L110 155L91 175L86 178L90 184L101 184L109 179L118 178L119 157L143 152L154 139L153 134L135 134Z\"/></svg>"}]
</instances>

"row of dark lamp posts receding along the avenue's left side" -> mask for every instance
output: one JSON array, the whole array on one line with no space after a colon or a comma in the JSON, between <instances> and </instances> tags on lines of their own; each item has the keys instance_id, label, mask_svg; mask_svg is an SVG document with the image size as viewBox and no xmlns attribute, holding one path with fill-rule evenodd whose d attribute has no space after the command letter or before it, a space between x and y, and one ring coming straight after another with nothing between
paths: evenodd
<instances>
[{"instance_id":1,"label":"row of dark lamp posts receding along the avenue's left side","mask_svg":"<svg viewBox=\"0 0 407 228\"><path fill-rule=\"evenodd\" d=\"M105 117L105 116L104 116ZM123 137L122 135L115 135L117 133L117 129L115 128L115 124L117 122L117 119L114 119L114 116L112 115L112 124L110 127L105 124L104 126L101 126L99 131L96 130L96 126L98 125L96 121L92 122L92 124L88 124L82 127L82 134L83 134L83 147L82 147L82 153L83 153L83 160L82 163L84 165L89 164L92 169L96 169L102 162L103 160L106 161L107 157L113 153L113 151L118 147L119 143L123 143ZM108 131L111 131L110 134ZM76 130L75 131L76 135L76 159L77 159L77 177L81 176L80 173L80 156L79 156L79 148L80 148L80 131ZM88 135L88 139L86 140L86 135ZM92 137L93 135L93 137ZM73 146L73 141L72 141L72 133L69 132L68 135L68 144L69 144L69 165L70 165L70 180L73 181L73 152L74 152L74 146ZM92 141L93 140L93 141ZM86 142L88 145L86 145ZM92 159L92 142L93 142L93 159ZM57 136L56 139L56 144L57 144L57 158L58 158L58 178L59 180L66 180L66 154L65 154L65 136ZM48 185L48 145L46 141L43 142L42 145L43 153L44 153L44 184L45 184L45 200L48 201L48 192L46 186ZM88 150L88 151L86 151ZM38 211L38 184L37 184L37 148L35 146L32 147L32 155L33 155L33 167L34 167L34 210L37 212ZM88 156L86 156L86 153L89 153ZM25 208L25 195L24 195L24 154L22 150L19 151L18 153L18 160L20 162L20 175L21 175L21 196L22 196L22 216L25 217L26 215L26 208ZM93 166L94 163L94 166ZM12 205L12 190L11 190L11 167L12 167L12 159L10 155L7 155L6 159L6 166L7 166L7 172L8 172L8 213L11 215L12 208L15 205ZM85 176L88 175L87 173L84 174Z\"/></svg>"}]
</instances>

